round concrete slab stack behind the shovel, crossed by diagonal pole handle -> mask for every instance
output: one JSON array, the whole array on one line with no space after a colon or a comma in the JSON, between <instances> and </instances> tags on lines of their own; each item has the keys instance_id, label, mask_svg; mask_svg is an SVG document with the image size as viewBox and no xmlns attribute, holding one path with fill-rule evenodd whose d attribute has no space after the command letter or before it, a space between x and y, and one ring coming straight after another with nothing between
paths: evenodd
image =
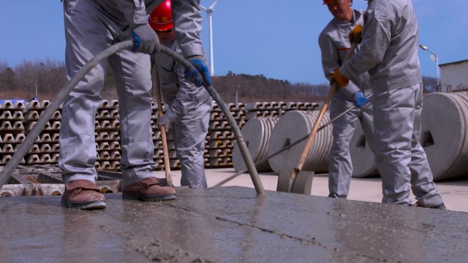
<instances>
[{"instance_id":1,"label":"round concrete slab stack behind the shovel, crossed by diagonal pole handle","mask_svg":"<svg viewBox=\"0 0 468 263\"><path fill-rule=\"evenodd\" d=\"M270 136L268 155L276 153L276 151L279 151L310 134L313 124L317 119L317 115L318 111L291 111L284 114L276 123L272 131L272 135ZM321 125L328 121L330 121L330 114L329 112L326 112ZM331 125L328 125L320 132L317 132L302 170L314 171L315 173L328 172L328 158L330 155L332 139ZM305 142L306 140L303 140L298 145L291 147L289 150L283 151L283 153L270 158L268 162L270 163L272 170L276 173L279 173L280 170L292 170L298 162L302 149L304 149Z\"/></svg>"}]
</instances>

